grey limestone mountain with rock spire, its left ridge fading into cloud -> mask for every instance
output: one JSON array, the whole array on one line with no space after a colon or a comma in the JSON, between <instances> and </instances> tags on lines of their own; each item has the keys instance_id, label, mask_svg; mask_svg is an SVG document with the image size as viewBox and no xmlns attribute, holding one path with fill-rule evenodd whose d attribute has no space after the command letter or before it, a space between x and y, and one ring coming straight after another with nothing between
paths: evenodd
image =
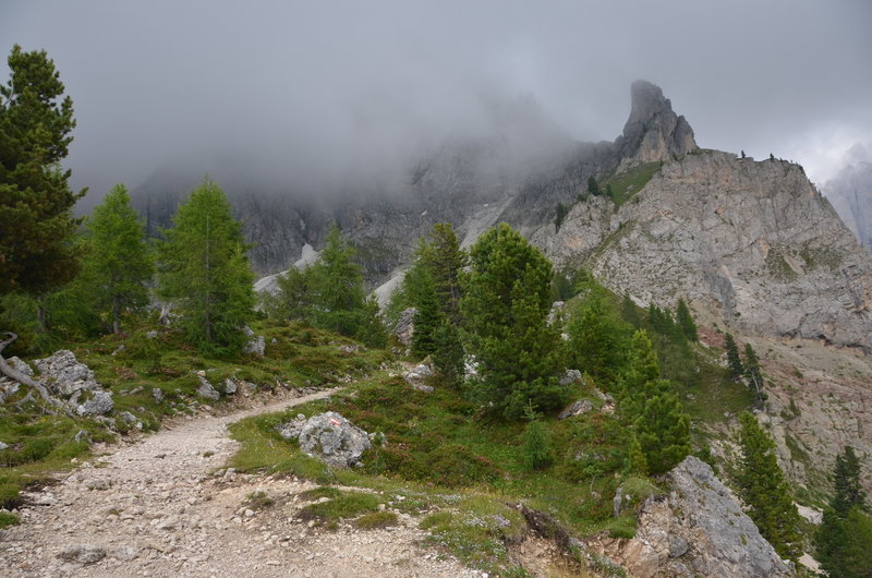
<instances>
[{"instance_id":1,"label":"grey limestone mountain with rock spire, its left ridge fading into cloud","mask_svg":"<svg viewBox=\"0 0 872 578\"><path fill-rule=\"evenodd\" d=\"M374 287L435 222L451 222L469 244L506 221L558 267L589 267L640 303L683 296L750 333L872 351L872 260L801 167L698 148L688 121L644 81L613 143L571 142L521 117L431 147L401 179L359 183L365 194L258 191L237 171L226 188L256 269L281 270L305 244L319 249L335 219ZM535 146L520 146L524 134ZM588 194L591 177L603 195ZM166 222L183 180L134 192L150 222ZM560 205L568 213L556 224Z\"/></svg>"}]
</instances>

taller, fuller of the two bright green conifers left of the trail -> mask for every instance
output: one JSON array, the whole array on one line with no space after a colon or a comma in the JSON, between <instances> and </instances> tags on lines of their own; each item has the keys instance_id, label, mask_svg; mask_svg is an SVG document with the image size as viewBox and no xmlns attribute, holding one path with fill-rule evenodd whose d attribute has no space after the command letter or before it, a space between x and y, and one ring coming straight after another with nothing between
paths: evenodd
<instances>
[{"instance_id":1,"label":"taller, fuller of the two bright green conifers left of the trail","mask_svg":"<svg viewBox=\"0 0 872 578\"><path fill-rule=\"evenodd\" d=\"M159 294L175 304L183 329L203 352L238 353L255 303L242 226L209 180L191 193L172 222L158 246Z\"/></svg>"}]
</instances>

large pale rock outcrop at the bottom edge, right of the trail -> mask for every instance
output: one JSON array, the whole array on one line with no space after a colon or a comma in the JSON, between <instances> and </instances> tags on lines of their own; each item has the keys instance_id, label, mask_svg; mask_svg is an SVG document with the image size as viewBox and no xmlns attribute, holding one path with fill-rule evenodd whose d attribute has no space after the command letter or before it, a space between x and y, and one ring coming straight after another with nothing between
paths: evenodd
<instances>
[{"instance_id":1,"label":"large pale rock outcrop at the bottom edge, right of the trail","mask_svg":"<svg viewBox=\"0 0 872 578\"><path fill-rule=\"evenodd\" d=\"M631 540L598 535L588 545L631 576L792 576L712 468L692 456L667 474L671 492L639 511Z\"/></svg>"}]
</instances>

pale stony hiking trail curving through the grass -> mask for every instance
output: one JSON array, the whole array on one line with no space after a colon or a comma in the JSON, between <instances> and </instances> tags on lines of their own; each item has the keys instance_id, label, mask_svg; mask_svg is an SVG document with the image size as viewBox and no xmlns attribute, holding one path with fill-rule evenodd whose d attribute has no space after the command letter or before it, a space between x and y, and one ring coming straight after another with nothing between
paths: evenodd
<instances>
[{"instance_id":1,"label":"pale stony hiking trail curving through the grass","mask_svg":"<svg viewBox=\"0 0 872 578\"><path fill-rule=\"evenodd\" d=\"M322 530L294 517L306 504L299 494L316 484L220 473L239 447L228 424L336 392L177 420L107 446L57 485L27 494L22 523L0 531L0 576L481 577L423 545L412 516L398 514L396 528ZM247 509L258 491L275 505Z\"/></svg>"}]
</instances>

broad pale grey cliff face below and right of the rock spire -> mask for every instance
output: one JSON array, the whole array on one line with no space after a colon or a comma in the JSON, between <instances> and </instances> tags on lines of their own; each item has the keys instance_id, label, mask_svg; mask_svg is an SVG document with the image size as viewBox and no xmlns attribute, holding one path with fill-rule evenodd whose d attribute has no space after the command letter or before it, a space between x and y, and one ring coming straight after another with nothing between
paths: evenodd
<instances>
[{"instance_id":1,"label":"broad pale grey cliff face below and right of the rock spire","mask_svg":"<svg viewBox=\"0 0 872 578\"><path fill-rule=\"evenodd\" d=\"M797 165L689 154L616 214L578 204L534 239L642 302L686 296L749 332L872 350L872 260Z\"/></svg>"}]
</instances>

